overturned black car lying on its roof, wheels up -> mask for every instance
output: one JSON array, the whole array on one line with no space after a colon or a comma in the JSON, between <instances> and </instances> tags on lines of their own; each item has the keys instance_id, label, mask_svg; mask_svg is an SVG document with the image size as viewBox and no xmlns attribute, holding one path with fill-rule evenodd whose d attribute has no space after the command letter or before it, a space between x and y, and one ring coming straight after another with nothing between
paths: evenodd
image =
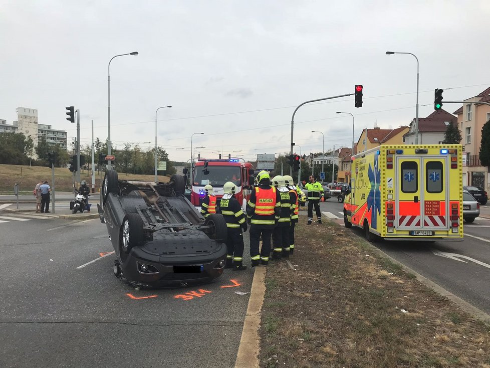
<instances>
[{"instance_id":1,"label":"overturned black car lying on its roof, wheels up","mask_svg":"<svg viewBox=\"0 0 490 368\"><path fill-rule=\"evenodd\" d=\"M177 287L205 283L223 273L226 223L206 220L184 197L185 182L118 180L108 170L102 182L102 223L117 259L114 275L135 287Z\"/></svg>"}]
</instances>

